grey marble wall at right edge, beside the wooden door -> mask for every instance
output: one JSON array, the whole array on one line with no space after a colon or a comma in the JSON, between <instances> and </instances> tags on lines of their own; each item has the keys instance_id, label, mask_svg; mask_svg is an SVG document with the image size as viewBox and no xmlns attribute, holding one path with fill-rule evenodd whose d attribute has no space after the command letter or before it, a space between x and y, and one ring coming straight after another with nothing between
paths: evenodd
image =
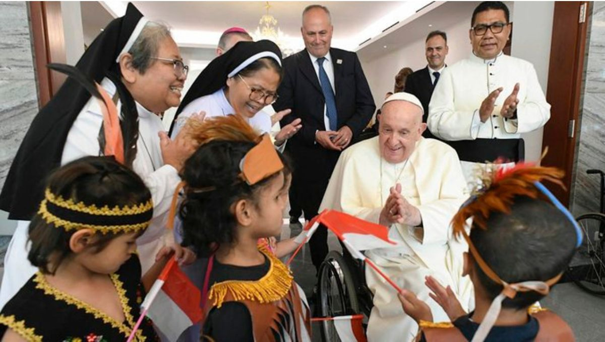
<instances>
[{"instance_id":1,"label":"grey marble wall at right edge, beside the wooden door","mask_svg":"<svg viewBox=\"0 0 605 342\"><path fill-rule=\"evenodd\" d=\"M605 171L605 2L593 4L575 168L572 209L576 215L599 209L600 178L586 170Z\"/></svg>"}]
</instances>

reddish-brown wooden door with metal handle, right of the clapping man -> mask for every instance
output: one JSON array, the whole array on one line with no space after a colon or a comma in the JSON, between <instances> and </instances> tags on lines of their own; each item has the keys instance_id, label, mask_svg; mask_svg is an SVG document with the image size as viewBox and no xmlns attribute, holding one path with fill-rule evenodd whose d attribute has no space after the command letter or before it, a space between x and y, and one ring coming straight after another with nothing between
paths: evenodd
<instances>
[{"instance_id":1,"label":"reddish-brown wooden door with metal handle, right of the clapping man","mask_svg":"<svg viewBox=\"0 0 605 342\"><path fill-rule=\"evenodd\" d=\"M586 19L580 23L582 4L586 4ZM552 20L551 57L546 90L546 101L551 104L551 119L544 127L542 138L542 146L549 147L549 153L541 161L541 165L555 166L565 171L563 184L566 190L547 184L565 206L569 206L576 137L580 131L578 116L587 22L591 7L592 4L586 1L557 1Z\"/></svg>"}]
</instances>

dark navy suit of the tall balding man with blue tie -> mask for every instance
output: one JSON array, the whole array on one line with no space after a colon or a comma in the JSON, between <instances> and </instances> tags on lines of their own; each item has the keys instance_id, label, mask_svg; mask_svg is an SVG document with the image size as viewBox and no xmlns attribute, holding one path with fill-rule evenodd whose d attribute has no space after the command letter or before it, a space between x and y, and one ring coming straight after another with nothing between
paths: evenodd
<instances>
[{"instance_id":1,"label":"dark navy suit of the tall balding man with blue tie","mask_svg":"<svg viewBox=\"0 0 605 342\"><path fill-rule=\"evenodd\" d=\"M370 86L355 52L330 49L334 69L337 127L347 125L353 132L350 145L358 141L376 109ZM324 94L306 49L290 55L283 62L284 77L278 88L280 97L273 104L279 112L292 109L280 121L282 127L301 118L302 128L290 138L286 150L295 165L296 177L304 180L327 180L340 155L315 142L315 131L325 130Z\"/></svg>"}]
</instances>

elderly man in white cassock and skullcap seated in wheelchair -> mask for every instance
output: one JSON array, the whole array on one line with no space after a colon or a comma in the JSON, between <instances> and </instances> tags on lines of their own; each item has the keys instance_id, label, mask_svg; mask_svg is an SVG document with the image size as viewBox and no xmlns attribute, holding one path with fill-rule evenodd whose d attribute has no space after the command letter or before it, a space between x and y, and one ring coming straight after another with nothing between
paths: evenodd
<instances>
[{"instance_id":1,"label":"elderly man in white cassock and skullcap seated in wheelchair","mask_svg":"<svg viewBox=\"0 0 605 342\"><path fill-rule=\"evenodd\" d=\"M428 303L436 321L448 320L431 299L425 277L450 285L465 310L473 307L473 287L462 277L464 242L451 236L450 221L468 197L456 151L443 142L425 139L422 104L409 93L385 100L379 136L345 150L330 178L321 203L389 227L394 249L366 252L400 287ZM370 341L408 341L417 333L396 290L366 268L374 308L368 323Z\"/></svg>"}]
</instances>

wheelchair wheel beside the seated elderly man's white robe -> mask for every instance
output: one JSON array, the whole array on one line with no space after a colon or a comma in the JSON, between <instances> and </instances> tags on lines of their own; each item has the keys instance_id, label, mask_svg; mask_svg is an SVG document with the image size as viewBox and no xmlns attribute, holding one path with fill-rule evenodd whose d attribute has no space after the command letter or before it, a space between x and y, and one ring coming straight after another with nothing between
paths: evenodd
<instances>
[{"instance_id":1,"label":"wheelchair wheel beside the seated elderly man's white robe","mask_svg":"<svg viewBox=\"0 0 605 342\"><path fill-rule=\"evenodd\" d=\"M325 257L319 268L319 314L321 317L336 317L359 313L359 302L351 270L339 252L333 250ZM333 321L321 322L324 341L338 342L338 333Z\"/></svg>"}]
</instances>

